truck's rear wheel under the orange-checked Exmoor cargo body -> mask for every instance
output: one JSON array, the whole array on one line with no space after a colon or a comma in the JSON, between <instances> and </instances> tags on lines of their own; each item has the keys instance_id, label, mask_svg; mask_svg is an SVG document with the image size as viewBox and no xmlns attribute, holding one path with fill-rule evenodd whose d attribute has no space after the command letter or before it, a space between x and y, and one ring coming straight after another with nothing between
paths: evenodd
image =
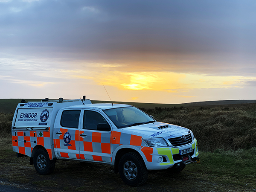
<instances>
[{"instance_id":1,"label":"truck's rear wheel under the orange-checked Exmoor cargo body","mask_svg":"<svg viewBox=\"0 0 256 192\"><path fill-rule=\"evenodd\" d=\"M49 154L44 148L39 148L35 151L33 163L35 170L40 175L48 175L55 168L55 160L50 160Z\"/></svg>"}]
</instances>

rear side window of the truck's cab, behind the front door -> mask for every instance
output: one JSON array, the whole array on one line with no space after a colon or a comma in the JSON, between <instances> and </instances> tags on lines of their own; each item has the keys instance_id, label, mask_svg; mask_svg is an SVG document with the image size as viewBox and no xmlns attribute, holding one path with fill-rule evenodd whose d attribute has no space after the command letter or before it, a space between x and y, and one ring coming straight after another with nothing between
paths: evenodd
<instances>
[{"instance_id":1,"label":"rear side window of the truck's cab, behind the front door","mask_svg":"<svg viewBox=\"0 0 256 192\"><path fill-rule=\"evenodd\" d=\"M61 115L61 126L67 128L78 128L81 110L63 111Z\"/></svg>"}]
</instances>

